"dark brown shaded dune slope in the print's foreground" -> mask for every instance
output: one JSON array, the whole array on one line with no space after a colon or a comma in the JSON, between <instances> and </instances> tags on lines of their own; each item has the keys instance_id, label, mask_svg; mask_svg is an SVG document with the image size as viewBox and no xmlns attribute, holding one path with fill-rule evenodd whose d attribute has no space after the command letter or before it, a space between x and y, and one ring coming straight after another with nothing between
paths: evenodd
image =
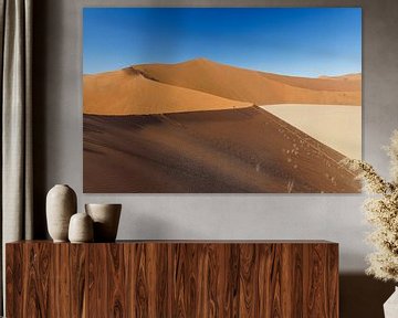
<instances>
[{"instance_id":1,"label":"dark brown shaded dune slope in the print's foreground","mask_svg":"<svg viewBox=\"0 0 398 318\"><path fill-rule=\"evenodd\" d=\"M358 192L342 158L260 107L84 115L84 192Z\"/></svg>"}]
</instances>

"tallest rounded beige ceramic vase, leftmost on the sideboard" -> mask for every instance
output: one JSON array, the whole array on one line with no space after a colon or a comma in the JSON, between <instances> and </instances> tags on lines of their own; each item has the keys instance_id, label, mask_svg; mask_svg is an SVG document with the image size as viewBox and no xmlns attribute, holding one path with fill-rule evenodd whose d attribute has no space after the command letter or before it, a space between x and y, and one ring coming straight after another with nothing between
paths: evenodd
<instances>
[{"instance_id":1,"label":"tallest rounded beige ceramic vase, leftmost on the sideboard","mask_svg":"<svg viewBox=\"0 0 398 318\"><path fill-rule=\"evenodd\" d=\"M70 219L76 213L76 193L66 184L54 186L46 195L48 230L54 242L67 242Z\"/></svg>"}]
</instances>

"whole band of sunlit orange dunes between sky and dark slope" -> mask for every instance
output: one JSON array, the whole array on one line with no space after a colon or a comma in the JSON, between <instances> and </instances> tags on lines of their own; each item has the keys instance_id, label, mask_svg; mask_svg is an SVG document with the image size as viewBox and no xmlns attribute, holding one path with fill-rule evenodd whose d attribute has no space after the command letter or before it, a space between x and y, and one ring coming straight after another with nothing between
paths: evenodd
<instances>
[{"instance_id":1,"label":"whole band of sunlit orange dunes between sky and dark slope","mask_svg":"<svg viewBox=\"0 0 398 318\"><path fill-rule=\"evenodd\" d=\"M275 104L360 105L360 74L305 78L196 59L84 75L83 113L148 115Z\"/></svg>"}]
</instances>

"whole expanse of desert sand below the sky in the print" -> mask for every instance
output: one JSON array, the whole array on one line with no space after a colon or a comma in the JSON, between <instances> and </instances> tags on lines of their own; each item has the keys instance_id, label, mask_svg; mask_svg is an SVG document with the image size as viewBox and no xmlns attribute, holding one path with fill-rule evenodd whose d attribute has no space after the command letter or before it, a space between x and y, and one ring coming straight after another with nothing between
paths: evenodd
<instances>
[{"instance_id":1,"label":"whole expanse of desert sand below the sky in the print","mask_svg":"<svg viewBox=\"0 0 398 318\"><path fill-rule=\"evenodd\" d=\"M339 165L360 158L360 107L344 106L360 105L360 74L303 78L198 59L83 81L84 192L360 190Z\"/></svg>"}]
</instances>

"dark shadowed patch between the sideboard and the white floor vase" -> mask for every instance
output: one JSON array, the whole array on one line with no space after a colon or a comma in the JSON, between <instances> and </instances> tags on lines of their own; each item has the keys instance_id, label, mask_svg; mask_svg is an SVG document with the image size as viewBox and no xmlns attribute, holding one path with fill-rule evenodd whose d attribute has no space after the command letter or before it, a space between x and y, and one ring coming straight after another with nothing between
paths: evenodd
<instances>
[{"instance_id":1,"label":"dark shadowed patch between the sideboard and the white floor vase","mask_svg":"<svg viewBox=\"0 0 398 318\"><path fill-rule=\"evenodd\" d=\"M353 274L339 277L341 318L384 318L383 304L394 292L394 283Z\"/></svg>"}]
</instances>

